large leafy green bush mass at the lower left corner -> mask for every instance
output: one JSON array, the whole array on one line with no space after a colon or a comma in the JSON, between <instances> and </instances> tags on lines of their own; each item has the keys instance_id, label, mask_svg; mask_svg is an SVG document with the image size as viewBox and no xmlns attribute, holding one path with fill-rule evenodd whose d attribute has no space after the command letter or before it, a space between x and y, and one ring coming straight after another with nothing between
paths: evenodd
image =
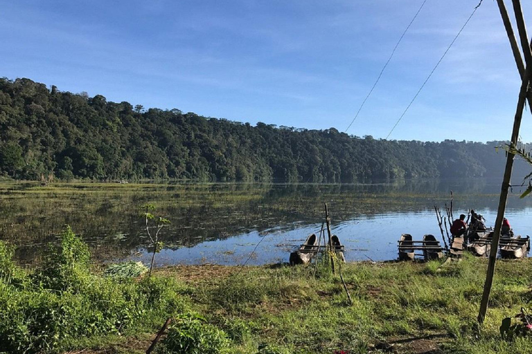
<instances>
[{"instance_id":1,"label":"large leafy green bush mass at the lower left corner","mask_svg":"<svg viewBox=\"0 0 532 354\"><path fill-rule=\"evenodd\" d=\"M173 279L98 277L87 245L67 227L44 267L20 286L24 274L0 243L0 348L7 353L55 353L81 337L154 330L186 311ZM7 274L7 276L6 276ZM22 278L24 279L24 278Z\"/></svg>"}]
</instances>

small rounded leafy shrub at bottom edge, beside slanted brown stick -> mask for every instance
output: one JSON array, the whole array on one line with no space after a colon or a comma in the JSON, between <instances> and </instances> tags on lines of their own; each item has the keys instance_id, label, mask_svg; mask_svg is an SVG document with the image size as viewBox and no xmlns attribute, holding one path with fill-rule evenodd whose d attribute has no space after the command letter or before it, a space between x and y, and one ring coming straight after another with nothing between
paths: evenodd
<instances>
[{"instance_id":1,"label":"small rounded leafy shrub at bottom edge, beside slanted brown stick","mask_svg":"<svg viewBox=\"0 0 532 354\"><path fill-rule=\"evenodd\" d=\"M223 330L206 324L202 317L188 315L170 327L159 353L222 354L228 353L228 349L229 340Z\"/></svg>"}]
</instances>

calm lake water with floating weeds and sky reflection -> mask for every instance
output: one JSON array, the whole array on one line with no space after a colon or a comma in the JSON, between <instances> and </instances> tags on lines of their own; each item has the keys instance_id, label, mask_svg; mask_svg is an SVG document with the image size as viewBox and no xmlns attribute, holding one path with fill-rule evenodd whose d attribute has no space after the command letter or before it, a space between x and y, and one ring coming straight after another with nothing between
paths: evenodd
<instances>
[{"instance_id":1,"label":"calm lake water with floating weeds and sky reflection","mask_svg":"<svg viewBox=\"0 0 532 354\"><path fill-rule=\"evenodd\" d=\"M347 261L397 258L402 233L441 241L434 205L450 203L454 216L475 209L495 223L500 180L402 180L360 185L317 184L57 184L0 183L0 239L17 245L21 263L42 257L69 224L91 245L93 257L149 263L139 206L171 225L157 265L287 262L308 234L319 233L328 203L332 233L346 246ZM532 235L532 198L515 187L506 217L516 234ZM258 246L257 246L258 245ZM252 253L252 251L255 252Z\"/></svg>"}]
</instances>

